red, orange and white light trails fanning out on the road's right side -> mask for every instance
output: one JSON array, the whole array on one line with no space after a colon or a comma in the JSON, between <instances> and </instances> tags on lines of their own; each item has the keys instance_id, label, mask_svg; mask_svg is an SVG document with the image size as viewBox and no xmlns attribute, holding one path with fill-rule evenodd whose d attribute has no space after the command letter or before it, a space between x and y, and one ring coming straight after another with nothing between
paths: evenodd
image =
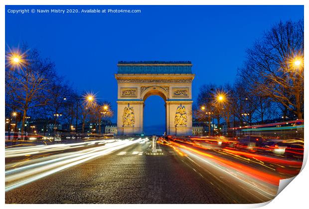
<instances>
[{"instance_id":1,"label":"red, orange and white light trails fanning out on the road's right side","mask_svg":"<svg viewBox=\"0 0 309 209\"><path fill-rule=\"evenodd\" d=\"M169 143L169 145L165 143L164 145L178 149L184 156L187 156L188 159L215 178L224 176L224 181L216 178L222 184L228 185L234 182L237 187L254 193L255 196L258 195L261 199L267 198L271 200L276 196L279 182L284 179L278 171L295 174L294 171L287 169L287 166L300 167L302 165L302 162L299 161L237 151L233 148L221 148L216 151L199 144L187 143L185 140L166 141L166 143ZM233 158L238 162L233 161ZM261 169L263 167L264 169Z\"/></svg>"}]
</instances>

